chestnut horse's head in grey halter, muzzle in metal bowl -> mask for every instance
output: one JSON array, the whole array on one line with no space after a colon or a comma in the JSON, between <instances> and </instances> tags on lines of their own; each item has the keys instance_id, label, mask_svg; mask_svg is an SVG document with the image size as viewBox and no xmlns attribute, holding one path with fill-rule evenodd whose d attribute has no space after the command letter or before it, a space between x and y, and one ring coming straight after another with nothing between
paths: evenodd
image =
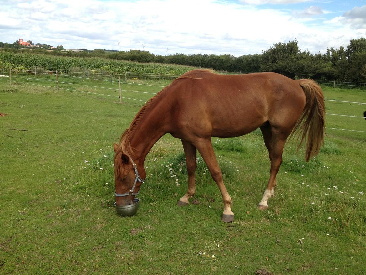
<instances>
[{"instance_id":1,"label":"chestnut horse's head in grey halter, muzzle in metal bowl","mask_svg":"<svg viewBox=\"0 0 366 275\"><path fill-rule=\"evenodd\" d=\"M131 158L123 154L117 144L115 150L114 168L116 185L116 205L130 205L137 195L143 179L139 176L137 165ZM145 169L140 168L145 175Z\"/></svg>"}]
</instances>

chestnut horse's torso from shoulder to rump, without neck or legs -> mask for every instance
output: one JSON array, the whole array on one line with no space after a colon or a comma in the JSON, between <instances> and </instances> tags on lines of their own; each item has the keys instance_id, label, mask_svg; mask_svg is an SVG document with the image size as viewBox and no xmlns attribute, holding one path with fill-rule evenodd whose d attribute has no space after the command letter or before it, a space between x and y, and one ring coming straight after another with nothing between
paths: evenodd
<instances>
[{"instance_id":1,"label":"chestnut horse's torso from shoulder to rump, without neck or legs","mask_svg":"<svg viewBox=\"0 0 366 275\"><path fill-rule=\"evenodd\" d=\"M305 106L299 84L277 73L219 75L209 70L183 74L176 87L181 124L212 136L239 136L269 121L294 124Z\"/></svg>"}]
</instances>

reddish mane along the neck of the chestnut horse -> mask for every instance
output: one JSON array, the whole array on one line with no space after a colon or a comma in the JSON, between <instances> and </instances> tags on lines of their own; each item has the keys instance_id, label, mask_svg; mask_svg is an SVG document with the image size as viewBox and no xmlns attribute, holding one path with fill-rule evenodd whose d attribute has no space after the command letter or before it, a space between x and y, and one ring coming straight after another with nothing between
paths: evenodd
<instances>
[{"instance_id":1,"label":"reddish mane along the neck of the chestnut horse","mask_svg":"<svg viewBox=\"0 0 366 275\"><path fill-rule=\"evenodd\" d=\"M195 77L196 73L202 73L202 72L212 72L211 70L201 70L201 69L197 69L197 70L191 70L187 73L182 74L182 76L176 78L175 80L172 81L171 84L169 84L168 86L164 87L160 92L158 92L155 96L153 96L152 98L150 98L146 104L139 110L139 112L135 115L134 119L131 122L131 125L128 129L124 130L121 137L120 137L120 141L119 141L119 149L120 152L127 154L128 156L131 156L134 153L134 148L131 146L131 139L132 136L134 135L134 132L136 131L139 122L143 119L143 117L146 115L146 113L151 109L151 106L157 102L157 100L163 95L165 94L165 92L171 88L172 86L174 86L178 80L183 79L183 78L191 78L191 79L202 79L205 77Z\"/></svg>"}]
</instances>

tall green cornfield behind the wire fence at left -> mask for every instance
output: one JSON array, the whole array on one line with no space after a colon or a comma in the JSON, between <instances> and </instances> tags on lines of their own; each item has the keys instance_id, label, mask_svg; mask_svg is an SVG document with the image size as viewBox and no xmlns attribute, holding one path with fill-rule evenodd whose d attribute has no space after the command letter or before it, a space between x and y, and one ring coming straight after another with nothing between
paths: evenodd
<instances>
[{"instance_id":1,"label":"tall green cornfield behind the wire fence at left","mask_svg":"<svg viewBox=\"0 0 366 275\"><path fill-rule=\"evenodd\" d=\"M121 72L143 74L174 74L181 75L194 69L190 66L166 65L160 63L138 63L132 61L95 58L95 57L69 57L37 55L31 53L12 53L0 51L0 69L30 70L35 67L44 70L59 72L71 72L75 68L89 70L91 73L117 74ZM51 69L52 68L52 69Z\"/></svg>"}]
</instances>

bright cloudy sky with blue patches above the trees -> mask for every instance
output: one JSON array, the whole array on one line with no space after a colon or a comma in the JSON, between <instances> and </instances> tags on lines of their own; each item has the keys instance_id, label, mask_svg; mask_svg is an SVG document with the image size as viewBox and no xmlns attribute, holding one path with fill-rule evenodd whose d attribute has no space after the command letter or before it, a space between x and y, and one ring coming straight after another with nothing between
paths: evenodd
<instances>
[{"instance_id":1,"label":"bright cloudy sky with blue patches above the trees","mask_svg":"<svg viewBox=\"0 0 366 275\"><path fill-rule=\"evenodd\" d=\"M0 0L8 43L242 56L294 39L324 53L360 37L366 0Z\"/></svg>"}]
</instances>

